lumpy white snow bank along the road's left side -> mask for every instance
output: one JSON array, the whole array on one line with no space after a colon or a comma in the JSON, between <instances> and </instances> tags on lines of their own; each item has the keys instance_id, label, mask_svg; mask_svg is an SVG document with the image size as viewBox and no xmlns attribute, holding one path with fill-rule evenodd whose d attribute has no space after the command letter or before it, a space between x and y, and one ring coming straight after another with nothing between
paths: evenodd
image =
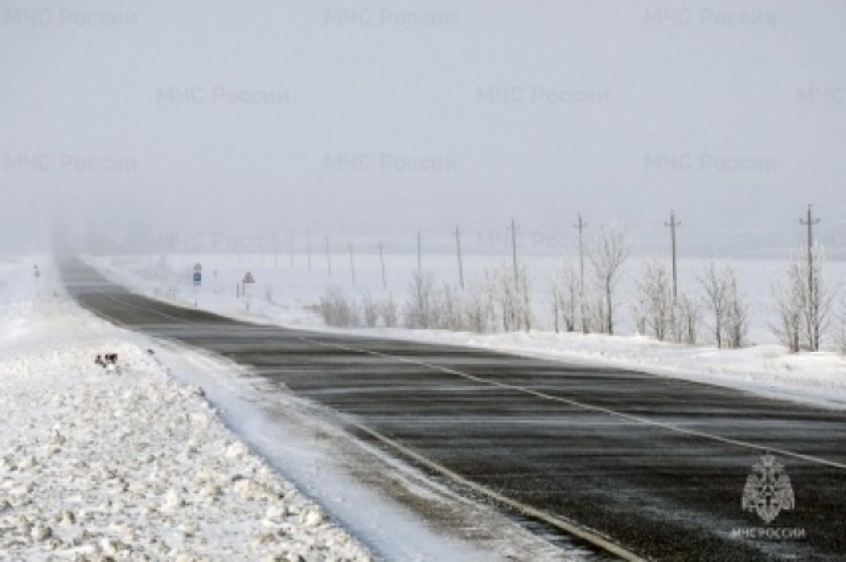
<instances>
[{"instance_id":1,"label":"lumpy white snow bank along the road's left side","mask_svg":"<svg viewBox=\"0 0 846 562\"><path fill-rule=\"evenodd\" d=\"M58 296L26 296L0 315L0 558L370 559L200 388ZM120 374L94 365L106 352Z\"/></svg>"}]
</instances>

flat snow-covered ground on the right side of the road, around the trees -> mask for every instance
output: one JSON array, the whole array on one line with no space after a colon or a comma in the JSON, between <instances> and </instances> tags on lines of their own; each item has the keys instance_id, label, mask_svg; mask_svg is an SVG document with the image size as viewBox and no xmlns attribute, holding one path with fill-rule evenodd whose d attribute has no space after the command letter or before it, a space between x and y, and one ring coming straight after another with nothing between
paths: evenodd
<instances>
[{"instance_id":1,"label":"flat snow-covered ground on the right side of the road, around the trees","mask_svg":"<svg viewBox=\"0 0 846 562\"><path fill-rule=\"evenodd\" d=\"M144 295L170 300L184 306L200 306L254 322L280 323L292 327L327 328L313 311L325 289L341 286L356 295L384 297L391 295L402 302L407 293L416 256L386 256L387 289L382 284L378 256L360 256L356 262L355 285L349 262L336 256L333 275L325 264L313 258L313 267L305 256L294 256L294 267L287 259L274 262L272 256L124 256L92 260L98 267ZM557 260L549 257L528 258L528 267L536 279L534 306L539 318L548 318L544 292L545 279L552 278ZM341 262L338 264L338 262ZM468 282L481 276L484 267L496 263L489 256L468 256L464 272ZM196 263L203 265L201 287L191 283ZM680 282L695 284L695 275L705 262L683 261ZM750 302L753 345L743 350L717 350L707 344L689 347L666 344L641 336L604 336L579 333L556 334L549 322L539 322L531 333L453 333L441 330L372 328L374 335L391 338L422 339L453 344L469 344L494 350L540 355L564 361L589 361L610 366L648 370L657 374L741 388L781 399L799 400L815 405L846 409L846 361L834 351L789 354L775 342L770 329L773 322L772 283L780 278L784 262L735 262L741 289ZM457 266L451 256L429 256L426 267L438 278L456 277ZM635 264L629 273L637 270ZM236 285L246 272L256 283L248 285L247 294L236 295ZM846 278L846 264L827 264L832 286ZM629 284L630 275L629 275ZM626 293L626 287L621 292ZM626 306L622 317L628 317ZM622 333L626 333L624 327Z\"/></svg>"}]
</instances>

